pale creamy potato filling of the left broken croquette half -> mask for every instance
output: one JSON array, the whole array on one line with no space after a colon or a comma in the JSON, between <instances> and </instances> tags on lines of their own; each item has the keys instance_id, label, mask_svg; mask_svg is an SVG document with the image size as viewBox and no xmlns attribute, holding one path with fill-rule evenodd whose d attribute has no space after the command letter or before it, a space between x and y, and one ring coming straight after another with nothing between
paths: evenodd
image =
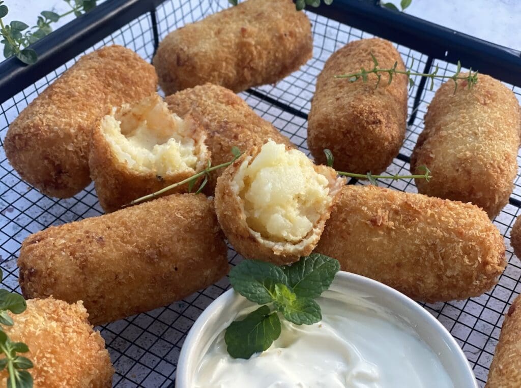
<instances>
[{"instance_id":1,"label":"pale creamy potato filling of the left broken croquette half","mask_svg":"<svg viewBox=\"0 0 521 388\"><path fill-rule=\"evenodd\" d=\"M159 96L106 115L102 131L118 160L132 170L157 175L195 172L195 127L170 112Z\"/></svg>"}]
</instances>

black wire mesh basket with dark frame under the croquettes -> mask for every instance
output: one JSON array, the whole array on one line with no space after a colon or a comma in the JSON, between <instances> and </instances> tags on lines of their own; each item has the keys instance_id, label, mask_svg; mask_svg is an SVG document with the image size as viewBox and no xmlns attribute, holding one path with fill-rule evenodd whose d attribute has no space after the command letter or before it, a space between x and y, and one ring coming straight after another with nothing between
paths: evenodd
<instances>
[{"instance_id":1,"label":"black wire mesh basket with dark frame under the croquettes","mask_svg":"<svg viewBox=\"0 0 521 388\"><path fill-rule=\"evenodd\" d=\"M272 122L302 151L309 154L306 119L316 76L333 51L347 42L374 36L364 30L399 42L396 47L406 66L414 71L429 72L438 64L442 74L451 74L456 69L454 62L462 59L466 66L516 84L508 84L508 87L521 100L519 53L371 3L375 2L335 0L331 7L306 11L313 24L313 59L276 85L240 94L259 115ZM227 0L111 0L98 6L90 15L69 23L36 43L40 61L34 67L23 68L15 59L4 61L0 64L0 101L4 101L0 115L0 141L20 111L80 55L116 43L137 51L150 61L158 41L168 32L227 6ZM403 31L407 33L403 34ZM68 36L65 41L64 36ZM69 58L72 59L67 60ZM434 90L439 85L437 82ZM389 166L388 174L408 174L409 157L418 134L423 130L426 107L434 94L425 86L426 80L416 77L408 99L406 139L399 156ZM0 148L0 161L0 267L6 274L3 285L19 291L16 258L24 238L51 225L100 215L102 209L93 185L73 198L56 200L23 182L9 165L3 147ZM510 245L510 229L521 204L519 179L518 175L510 203L494 219L494 224L505 237L508 259L498 285L478 298L425 305L462 346L480 386L484 386L487 379L503 314L521 292L521 263L513 255ZM350 183L364 184L356 180ZM397 190L416 191L412 180L382 180L379 184ZM231 248L228 258L232 265L242 260ZM188 331L203 309L228 286L227 279L222 279L183 301L98 327L116 368L113 385L173 386L177 359Z\"/></svg>"}]
</instances>

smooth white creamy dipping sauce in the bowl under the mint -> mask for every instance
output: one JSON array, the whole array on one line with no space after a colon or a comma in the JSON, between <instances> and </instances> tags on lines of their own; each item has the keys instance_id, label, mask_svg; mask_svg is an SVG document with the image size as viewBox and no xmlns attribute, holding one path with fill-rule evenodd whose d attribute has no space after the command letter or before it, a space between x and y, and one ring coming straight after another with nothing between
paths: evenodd
<instances>
[{"instance_id":1,"label":"smooth white creamy dipping sauce in the bowl under the mint","mask_svg":"<svg viewBox=\"0 0 521 388\"><path fill-rule=\"evenodd\" d=\"M281 318L280 337L248 360L226 351L231 317L197 368L195 388L454 388L438 357L403 319L363 298L323 295L318 324Z\"/></svg>"}]
</instances>

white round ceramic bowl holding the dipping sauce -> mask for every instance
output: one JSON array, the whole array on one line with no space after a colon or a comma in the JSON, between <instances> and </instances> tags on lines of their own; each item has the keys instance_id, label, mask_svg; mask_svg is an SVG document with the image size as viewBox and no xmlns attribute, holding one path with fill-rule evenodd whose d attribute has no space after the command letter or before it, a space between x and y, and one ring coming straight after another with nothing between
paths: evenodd
<instances>
[{"instance_id":1,"label":"white round ceramic bowl holding the dipping sauce","mask_svg":"<svg viewBox=\"0 0 521 388\"><path fill-rule=\"evenodd\" d=\"M478 387L472 368L452 335L412 299L375 280L344 271L337 273L330 289L361 295L371 303L403 318L438 355L455 387ZM193 388L197 367L215 339L216 331L226 327L238 312L251 305L252 302L233 290L228 290L205 309L195 321L181 349L176 388Z\"/></svg>"}]
</instances>

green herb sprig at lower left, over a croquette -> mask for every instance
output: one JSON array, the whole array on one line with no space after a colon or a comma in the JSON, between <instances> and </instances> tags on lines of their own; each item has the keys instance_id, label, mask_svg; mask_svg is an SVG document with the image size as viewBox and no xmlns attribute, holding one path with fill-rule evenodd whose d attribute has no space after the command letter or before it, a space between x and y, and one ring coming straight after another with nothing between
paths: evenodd
<instances>
[{"instance_id":1,"label":"green herb sprig at lower left, over a croquette","mask_svg":"<svg viewBox=\"0 0 521 388\"><path fill-rule=\"evenodd\" d=\"M0 270L0 279L2 279L2 270ZM22 295L0 290L0 325L13 326L13 319L7 312L21 314L26 307ZM7 369L9 373L7 388L32 388L33 378L28 369L33 367L33 363L29 358L18 355L18 353L29 352L29 347L23 342L11 341L2 327L0 327L0 352L4 354L4 358L0 358L0 371Z\"/></svg>"}]
</instances>

